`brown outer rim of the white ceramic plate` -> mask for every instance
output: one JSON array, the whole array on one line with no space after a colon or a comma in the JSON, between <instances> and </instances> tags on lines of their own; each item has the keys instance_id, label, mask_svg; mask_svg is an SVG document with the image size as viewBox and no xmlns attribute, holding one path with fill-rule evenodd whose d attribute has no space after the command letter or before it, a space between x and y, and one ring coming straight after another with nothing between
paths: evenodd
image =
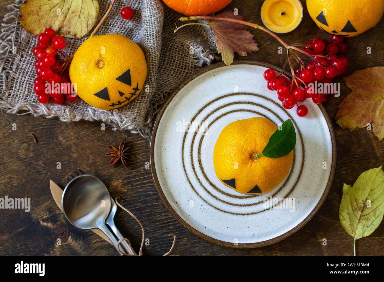
<instances>
[{"instance_id":1,"label":"brown outer rim of the white ceramic plate","mask_svg":"<svg viewBox=\"0 0 384 282\"><path fill-rule=\"evenodd\" d=\"M263 66L263 67L266 67L266 68L272 68L272 69L276 69L276 70L281 71L281 68L278 68L278 67L276 67L276 66L274 66L272 64L268 64L268 63L264 63L264 62L260 62L260 61L254 61L254 60L235 60L235 61L233 61L232 65L236 65L236 64L251 64L251 65L255 65L255 66ZM288 236L291 236L293 233L295 233L300 228L302 228L306 223L308 223L308 221L310 221L310 219L318 212L320 207L323 205L325 198L328 196L329 190L331 189L331 186L332 186L332 183L333 183L335 171L336 171L336 158L337 158L336 137L335 137L333 125L332 125L331 119L329 118L329 115L327 114L327 112L324 109L323 105L322 104L318 104L318 106L319 106L321 112L323 113L324 118L325 118L325 120L326 120L326 122L328 124L329 133L331 135L331 143L332 143L331 173L329 175L328 183L327 183L326 188L325 188L325 190L323 192L323 195L321 196L320 200L318 201L318 203L316 204L314 209L311 211L311 213L308 214L308 216L305 219L303 219L303 221L301 221L298 225L296 225L294 228L292 228L291 230L287 231L286 233L281 234L280 236L277 236L277 237L275 237L273 239L269 239L269 240L266 240L266 241L255 242L255 243L239 243L238 245L234 245L231 242L225 242L225 241L221 241L221 240L218 240L218 239L214 239L214 238L212 238L210 236L207 236L207 235L201 233L197 229L195 229L192 226L190 226L187 222L184 221L184 219L182 219L179 216L179 214L177 214L177 212L172 208L172 206L168 202L166 196L164 195L164 192L162 191L162 188L161 188L160 183L159 183L159 179L157 178L156 168L155 168L155 163L154 163L155 138L156 138L157 129L159 127L159 123L160 123L160 120L161 120L161 118L162 118L162 116L164 114L164 111L166 110L166 108L168 107L168 105L172 101L172 99L177 95L177 93L179 93L180 90L185 85L187 85L190 81L192 81L193 79L197 78L201 74L206 73L207 71L210 71L212 69L220 68L222 66L225 66L225 64L223 62L219 62L219 63L215 63L215 64L212 64L210 66L206 66L205 68L200 69L196 73L194 73L191 76L189 76L188 78L186 78L183 82L181 82L179 84L179 86L177 86L177 88L174 90L174 92L172 92L172 94L170 94L166 98L166 100L164 101L162 107L160 108L160 110L159 110L159 112L158 112L158 114L156 116L156 119L154 120L154 124L153 124L153 127L152 127L152 133L151 133L151 139L149 141L149 161L150 161L150 165L151 165L152 178L153 178L153 181L155 183L155 187L156 187L157 193L159 194L162 202L164 203L164 206L167 208L169 213L182 226L184 226L185 229L187 229L189 232L191 232L195 236L200 237L200 238L202 238L205 241L208 241L210 243L217 244L219 246L232 247L232 248L237 248L237 249L248 249L248 248L257 248L257 247L269 246L271 244L275 244L277 242L280 242L281 240L287 238ZM287 71L285 71L284 74L286 76L288 76L288 77L291 77L291 75Z\"/></svg>"}]
</instances>

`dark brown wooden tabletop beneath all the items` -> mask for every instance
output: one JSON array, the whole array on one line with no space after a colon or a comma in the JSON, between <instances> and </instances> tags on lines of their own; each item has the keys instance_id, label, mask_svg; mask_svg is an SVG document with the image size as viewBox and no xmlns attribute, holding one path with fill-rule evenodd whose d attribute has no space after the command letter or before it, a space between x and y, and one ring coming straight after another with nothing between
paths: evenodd
<instances>
[{"instance_id":1,"label":"dark brown wooden tabletop beneath all the items","mask_svg":"<svg viewBox=\"0 0 384 282\"><path fill-rule=\"evenodd\" d=\"M2 0L0 16L7 13L12 0ZM229 8L238 8L245 20L261 23L262 1L233 0ZM308 15L304 6L301 25L292 33L282 36L287 43L304 44L315 36L329 38ZM342 11L341 11L342 12ZM175 22L177 19L175 18ZM284 54L278 54L278 42L262 31L252 30L260 50L249 55L256 59L282 66ZM349 72L384 66L384 20L362 35L347 38ZM372 54L367 54L367 46ZM31 46L32 48L33 46ZM237 56L236 58L239 58ZM30 79L33 83L34 78ZM369 78L367 78L369 79ZM228 249L200 239L184 229L170 216L157 195L149 162L148 140L130 132L101 130L99 122L63 123L57 118L46 119L26 115L0 114L0 198L31 198L31 211L18 209L0 210L0 255L115 255L116 251L106 241L92 232L81 231L68 223L52 199L49 180L63 184L64 176L76 167L101 178L113 197L121 196L121 203L130 209L146 229L150 245L144 247L145 255L162 255L168 251L172 235L177 236L174 255L351 255L353 238L339 221L339 205L343 183L353 185L358 176L370 168L379 167L384 161L384 146L372 131L358 129L351 132L341 129L334 122L338 104L348 95L342 78L341 96L325 105L336 131L338 161L336 176L323 206L313 219L298 232L272 246L259 249ZM175 85L176 87L176 85ZM17 130L12 130L12 124ZM29 135L38 139L34 143ZM109 157L104 153L107 144L118 146L127 139L129 170L121 164L108 167ZM61 169L56 168L61 162ZM131 239L136 250L141 242L141 230L127 213L118 210L117 225ZM56 239L61 246L56 246ZM322 245L323 238L328 244ZM359 255L383 255L384 224L371 236L357 241Z\"/></svg>"}]
</instances>

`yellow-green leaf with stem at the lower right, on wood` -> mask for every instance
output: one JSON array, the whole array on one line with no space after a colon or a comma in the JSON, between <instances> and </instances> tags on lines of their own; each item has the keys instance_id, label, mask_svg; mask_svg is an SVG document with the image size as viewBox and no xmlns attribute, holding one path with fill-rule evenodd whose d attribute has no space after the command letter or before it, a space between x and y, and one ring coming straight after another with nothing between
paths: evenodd
<instances>
[{"instance_id":1,"label":"yellow-green leaf with stem at the lower right, on wood","mask_svg":"<svg viewBox=\"0 0 384 282\"><path fill-rule=\"evenodd\" d=\"M351 187L344 184L339 218L345 231L356 240L369 236L384 214L384 172L381 167L361 173Z\"/></svg>"}]
</instances>

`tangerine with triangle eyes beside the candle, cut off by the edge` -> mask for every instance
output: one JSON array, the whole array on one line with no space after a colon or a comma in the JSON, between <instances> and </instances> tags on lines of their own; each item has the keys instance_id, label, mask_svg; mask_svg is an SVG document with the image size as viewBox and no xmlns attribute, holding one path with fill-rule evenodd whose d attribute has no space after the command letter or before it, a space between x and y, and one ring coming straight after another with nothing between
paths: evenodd
<instances>
[{"instance_id":1,"label":"tangerine with triangle eyes beside the candle, cut off by the edge","mask_svg":"<svg viewBox=\"0 0 384 282\"><path fill-rule=\"evenodd\" d=\"M353 37L375 26L384 12L384 0L307 0L316 25L331 35Z\"/></svg>"}]
</instances>

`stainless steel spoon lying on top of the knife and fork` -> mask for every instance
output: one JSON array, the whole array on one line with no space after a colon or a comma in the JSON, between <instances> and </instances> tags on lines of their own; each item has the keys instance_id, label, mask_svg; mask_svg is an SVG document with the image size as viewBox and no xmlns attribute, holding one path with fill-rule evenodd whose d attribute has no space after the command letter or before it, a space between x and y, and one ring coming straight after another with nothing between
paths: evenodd
<instances>
[{"instance_id":1,"label":"stainless steel spoon lying on top of the knife and fork","mask_svg":"<svg viewBox=\"0 0 384 282\"><path fill-rule=\"evenodd\" d=\"M100 229L119 250L118 240L105 225L111 205L107 187L97 177L88 174L73 178L61 198L63 213L71 224L80 229Z\"/></svg>"}]
</instances>

